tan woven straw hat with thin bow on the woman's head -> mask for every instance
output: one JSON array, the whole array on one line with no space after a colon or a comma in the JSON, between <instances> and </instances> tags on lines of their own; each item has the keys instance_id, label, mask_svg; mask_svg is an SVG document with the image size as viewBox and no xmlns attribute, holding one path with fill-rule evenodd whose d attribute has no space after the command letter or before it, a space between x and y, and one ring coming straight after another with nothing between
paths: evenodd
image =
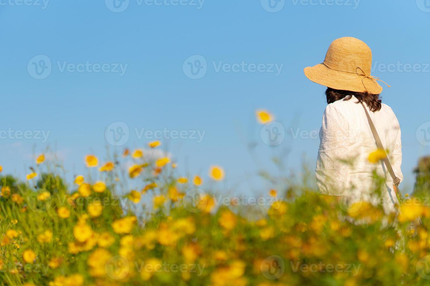
<instances>
[{"instance_id":1,"label":"tan woven straw hat with thin bow on the woman's head","mask_svg":"<svg viewBox=\"0 0 430 286\"><path fill-rule=\"evenodd\" d=\"M304 74L326 87L379 94L382 87L377 81L381 80L370 75L371 69L372 51L369 46L359 39L344 37L332 42L324 62L308 66Z\"/></svg>"}]
</instances>

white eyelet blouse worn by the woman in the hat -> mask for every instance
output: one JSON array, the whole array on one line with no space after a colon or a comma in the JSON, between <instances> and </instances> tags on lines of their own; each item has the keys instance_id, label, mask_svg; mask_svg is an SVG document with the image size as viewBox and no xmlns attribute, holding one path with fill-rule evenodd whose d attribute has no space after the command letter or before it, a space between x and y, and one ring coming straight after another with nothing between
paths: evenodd
<instances>
[{"instance_id":1,"label":"white eyelet blouse worn by the woman in the hat","mask_svg":"<svg viewBox=\"0 0 430 286\"><path fill-rule=\"evenodd\" d=\"M392 190L393 179L386 171L384 163L369 162L369 154L377 149L375 138L370 129L365 111L357 99L338 100L327 105L322 116L319 131L321 143L316 163L316 183L319 192L325 195L347 196L350 201L368 200L375 190L374 172L386 178L382 195L384 209L392 211L397 202ZM367 106L366 106L367 107ZM369 111L369 108L368 108ZM400 165L402 163L402 142L400 126L393 110L382 104L380 111L369 111L370 117L378 130L394 173L403 180Z\"/></svg>"}]
</instances>

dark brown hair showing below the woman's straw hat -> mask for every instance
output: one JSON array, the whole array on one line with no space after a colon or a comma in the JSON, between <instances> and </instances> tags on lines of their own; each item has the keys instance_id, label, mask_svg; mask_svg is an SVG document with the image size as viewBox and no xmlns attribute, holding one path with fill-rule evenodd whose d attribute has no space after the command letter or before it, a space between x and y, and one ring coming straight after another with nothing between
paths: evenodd
<instances>
[{"instance_id":1,"label":"dark brown hair showing below the woman's straw hat","mask_svg":"<svg viewBox=\"0 0 430 286\"><path fill-rule=\"evenodd\" d=\"M370 111L379 111L381 110L381 102L379 99L379 94L372 94L366 92L355 92L349 90L337 90L331 87L328 87L326 90L327 103L333 103L340 99L350 100L352 96L355 96L358 100L356 103L365 102L367 106L369 106Z\"/></svg>"}]
</instances>

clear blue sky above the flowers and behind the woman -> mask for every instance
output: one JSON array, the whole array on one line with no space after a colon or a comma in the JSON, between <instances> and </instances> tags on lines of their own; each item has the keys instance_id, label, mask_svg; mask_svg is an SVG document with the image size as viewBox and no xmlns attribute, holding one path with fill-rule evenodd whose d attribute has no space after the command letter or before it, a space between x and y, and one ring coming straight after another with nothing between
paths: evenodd
<instances>
[{"instance_id":1,"label":"clear blue sky above the flowers and behind the woman","mask_svg":"<svg viewBox=\"0 0 430 286\"><path fill-rule=\"evenodd\" d=\"M0 129L31 131L0 139L3 172L23 177L33 152L49 146L71 179L86 154L103 160L106 147L144 147L144 128L185 132L162 140L181 174L218 164L227 188L264 187L253 176L273 170L274 155L286 154L287 169L299 171L304 156L314 167L319 138L293 135L319 130L325 89L303 68L322 62L332 40L354 36L372 48L372 74L392 86L381 96L402 127L403 188L411 190L412 169L430 153L430 1L116 1L0 1ZM192 79L188 63L206 73ZM286 129L276 148L260 138L258 108ZM120 147L105 136L115 122L129 128Z\"/></svg>"}]
</instances>

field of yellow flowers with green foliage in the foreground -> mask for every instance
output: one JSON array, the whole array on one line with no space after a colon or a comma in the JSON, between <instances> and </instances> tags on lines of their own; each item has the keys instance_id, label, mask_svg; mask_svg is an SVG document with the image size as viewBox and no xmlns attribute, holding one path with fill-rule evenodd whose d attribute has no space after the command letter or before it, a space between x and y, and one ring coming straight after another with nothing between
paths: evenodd
<instances>
[{"instance_id":1,"label":"field of yellow flowers with green foliage in the foreground","mask_svg":"<svg viewBox=\"0 0 430 286\"><path fill-rule=\"evenodd\" d=\"M430 283L423 197L386 215L378 204L346 206L285 184L264 191L263 207L245 207L237 198L220 203L211 191L224 179L219 166L181 177L168 157L125 149L107 162L87 155L87 174L66 184L45 156L26 181L0 177L1 285ZM124 169L123 160L134 164ZM121 193L126 181L140 187Z\"/></svg>"}]
</instances>

